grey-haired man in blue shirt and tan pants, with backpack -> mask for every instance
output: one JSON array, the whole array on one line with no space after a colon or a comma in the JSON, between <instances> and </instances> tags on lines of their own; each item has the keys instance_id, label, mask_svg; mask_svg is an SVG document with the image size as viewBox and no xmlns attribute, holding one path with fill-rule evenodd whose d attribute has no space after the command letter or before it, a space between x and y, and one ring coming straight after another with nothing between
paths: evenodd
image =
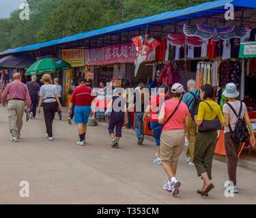
<instances>
[{"instance_id":1,"label":"grey-haired man in blue shirt and tan pants, with backpack","mask_svg":"<svg viewBox=\"0 0 256 218\"><path fill-rule=\"evenodd\" d=\"M193 117L193 109L197 104L197 98L199 98L199 91L196 89L195 80L188 80L187 82L188 92L184 94L182 101L188 106L188 110L191 114L189 116L189 140L188 151L186 153L186 162L189 166L195 167L193 163L194 151L195 151L195 138L197 135L197 124Z\"/></svg>"}]
</instances>

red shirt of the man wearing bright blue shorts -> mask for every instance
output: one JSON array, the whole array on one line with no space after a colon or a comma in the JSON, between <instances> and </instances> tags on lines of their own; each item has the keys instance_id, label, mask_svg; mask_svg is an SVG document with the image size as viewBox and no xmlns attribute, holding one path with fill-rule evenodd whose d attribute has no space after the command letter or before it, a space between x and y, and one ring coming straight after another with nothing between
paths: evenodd
<instances>
[{"instance_id":1,"label":"red shirt of the man wearing bright blue shorts","mask_svg":"<svg viewBox=\"0 0 256 218\"><path fill-rule=\"evenodd\" d=\"M91 88L81 85L76 87L72 93L70 102L75 106L91 106L94 96L91 95Z\"/></svg>"}]
</instances>

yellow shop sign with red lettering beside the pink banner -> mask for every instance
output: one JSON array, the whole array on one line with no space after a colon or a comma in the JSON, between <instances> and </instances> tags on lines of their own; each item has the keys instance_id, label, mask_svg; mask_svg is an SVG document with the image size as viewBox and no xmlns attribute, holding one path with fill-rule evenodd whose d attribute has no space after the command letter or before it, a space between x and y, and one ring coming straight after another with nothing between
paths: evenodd
<instances>
[{"instance_id":1,"label":"yellow shop sign with red lettering beside the pink banner","mask_svg":"<svg viewBox=\"0 0 256 218\"><path fill-rule=\"evenodd\" d=\"M70 63L72 67L83 67L85 65L85 50L83 49L62 50L62 59Z\"/></svg>"}]
</instances>

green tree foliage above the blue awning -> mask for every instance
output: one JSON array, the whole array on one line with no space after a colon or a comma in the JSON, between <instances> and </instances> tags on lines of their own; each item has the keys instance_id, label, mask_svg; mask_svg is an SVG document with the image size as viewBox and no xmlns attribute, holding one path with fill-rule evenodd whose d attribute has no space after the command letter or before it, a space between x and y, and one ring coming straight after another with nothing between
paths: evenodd
<instances>
[{"instance_id":1,"label":"green tree foliage above the blue awning","mask_svg":"<svg viewBox=\"0 0 256 218\"><path fill-rule=\"evenodd\" d=\"M20 20L20 10L12 12L8 19L0 19L0 50L100 29L206 1L27 0L29 20Z\"/></svg>"}]
</instances>

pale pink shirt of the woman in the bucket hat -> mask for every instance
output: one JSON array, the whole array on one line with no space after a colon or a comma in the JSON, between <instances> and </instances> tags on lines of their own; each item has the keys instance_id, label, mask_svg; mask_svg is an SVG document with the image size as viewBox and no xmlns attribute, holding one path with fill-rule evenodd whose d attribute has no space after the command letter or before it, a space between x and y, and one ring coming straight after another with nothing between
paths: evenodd
<instances>
[{"instance_id":1,"label":"pale pink shirt of the woman in the bucket hat","mask_svg":"<svg viewBox=\"0 0 256 218\"><path fill-rule=\"evenodd\" d=\"M236 102L229 102L229 104L231 104L231 106L233 106L233 108L236 110L236 114L239 115L240 112L240 106L241 103L240 101L236 101ZM244 104L244 102L242 102L242 118L244 118L244 114L246 112L246 105ZM236 116L236 114L234 114L233 110L231 110L231 108L229 108L229 106L227 104L224 104L223 106L223 114L229 114L229 123L231 125L231 129L234 130L236 127L236 122L238 121L238 117ZM229 127L225 127L224 129L224 133L229 132Z\"/></svg>"}]
</instances>

